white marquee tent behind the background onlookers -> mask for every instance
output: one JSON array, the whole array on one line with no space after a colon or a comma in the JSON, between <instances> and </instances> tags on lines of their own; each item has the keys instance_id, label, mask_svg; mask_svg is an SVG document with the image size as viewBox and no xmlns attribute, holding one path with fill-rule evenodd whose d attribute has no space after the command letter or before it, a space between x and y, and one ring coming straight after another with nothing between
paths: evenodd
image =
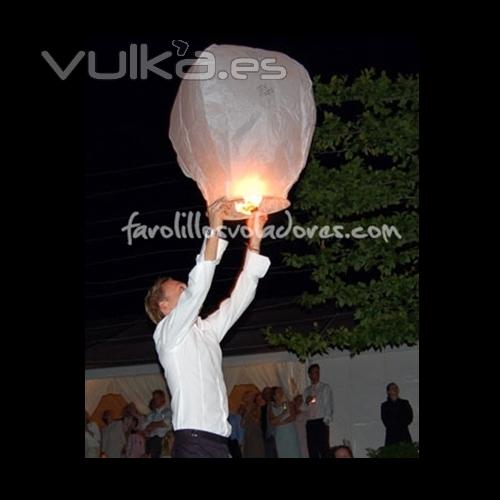
<instances>
[{"instance_id":1,"label":"white marquee tent behind the background onlookers","mask_svg":"<svg viewBox=\"0 0 500 500\"><path fill-rule=\"evenodd\" d=\"M385 400L385 386L396 382L401 397L413 407L410 433L419 439L419 367L418 347L369 351L350 357L347 352L332 351L309 363L319 363L321 380L330 384L334 395L334 423L330 428L332 445L348 441L356 457L366 456L366 448L384 444L380 404ZM238 384L282 386L288 396L301 393L309 381L306 367L286 352L231 356L223 361L228 394ZM148 412L148 402L155 389L165 389L159 365L136 365L87 370L85 373L85 408L92 414L101 397L121 394L135 402L139 411Z\"/></svg>"}]
</instances>

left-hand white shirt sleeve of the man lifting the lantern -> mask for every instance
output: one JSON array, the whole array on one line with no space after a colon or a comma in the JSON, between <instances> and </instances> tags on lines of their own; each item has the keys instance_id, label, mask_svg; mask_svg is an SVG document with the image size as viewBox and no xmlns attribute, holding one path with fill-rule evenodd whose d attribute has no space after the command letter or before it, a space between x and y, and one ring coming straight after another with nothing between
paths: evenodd
<instances>
[{"instance_id":1,"label":"left-hand white shirt sleeve of the man lifting the lantern","mask_svg":"<svg viewBox=\"0 0 500 500\"><path fill-rule=\"evenodd\" d=\"M227 247L227 241L219 238L215 260L205 260L205 246L206 240L196 257L196 265L189 273L187 288L180 296L175 309L156 327L154 340L157 350L161 348L170 350L179 346L198 318L201 306L210 290L215 268Z\"/></svg>"}]
</instances>

